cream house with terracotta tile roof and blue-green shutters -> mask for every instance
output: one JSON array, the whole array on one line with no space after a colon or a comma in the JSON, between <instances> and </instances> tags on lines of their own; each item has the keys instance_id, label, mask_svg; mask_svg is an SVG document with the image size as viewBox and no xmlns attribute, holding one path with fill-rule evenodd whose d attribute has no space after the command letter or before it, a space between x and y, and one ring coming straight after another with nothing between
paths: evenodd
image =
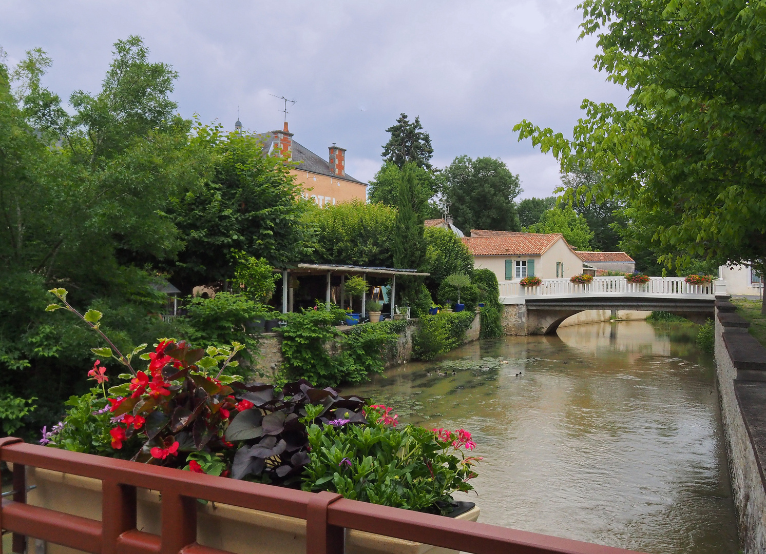
<instances>
[{"instance_id":1,"label":"cream house with terracotta tile roof and blue-green shutters","mask_svg":"<svg viewBox=\"0 0 766 554\"><path fill-rule=\"evenodd\" d=\"M499 282L536 275L557 279L579 275L582 259L561 233L471 230L463 243L476 269L491 269Z\"/></svg>"}]
</instances>

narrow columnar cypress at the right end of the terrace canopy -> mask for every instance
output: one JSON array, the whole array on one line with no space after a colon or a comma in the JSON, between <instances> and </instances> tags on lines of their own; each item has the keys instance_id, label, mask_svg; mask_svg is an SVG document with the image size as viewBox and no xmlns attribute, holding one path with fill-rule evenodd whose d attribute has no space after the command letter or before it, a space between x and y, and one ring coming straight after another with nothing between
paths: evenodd
<instances>
[{"instance_id":1,"label":"narrow columnar cypress at the right end of the terrace canopy","mask_svg":"<svg viewBox=\"0 0 766 554\"><path fill-rule=\"evenodd\" d=\"M422 200L417 196L417 178L414 163L404 165L399 183L398 206L393 244L394 266L402 269L424 269L427 244L423 217ZM405 277L398 279L401 298L413 301L420 294L423 279Z\"/></svg>"}]
</instances>

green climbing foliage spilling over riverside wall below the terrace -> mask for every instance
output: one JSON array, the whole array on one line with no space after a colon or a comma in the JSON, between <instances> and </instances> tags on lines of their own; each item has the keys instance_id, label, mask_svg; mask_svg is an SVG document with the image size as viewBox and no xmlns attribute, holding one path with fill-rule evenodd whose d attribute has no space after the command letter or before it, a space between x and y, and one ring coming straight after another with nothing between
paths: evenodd
<instances>
[{"instance_id":1,"label":"green climbing foliage spilling over riverside wall below the terrace","mask_svg":"<svg viewBox=\"0 0 766 554\"><path fill-rule=\"evenodd\" d=\"M290 379L306 379L316 386L359 383L369 373L381 372L385 347L397 339L385 324L358 325L341 334L335 325L345 312L335 307L284 316L284 370Z\"/></svg>"}]
</instances>

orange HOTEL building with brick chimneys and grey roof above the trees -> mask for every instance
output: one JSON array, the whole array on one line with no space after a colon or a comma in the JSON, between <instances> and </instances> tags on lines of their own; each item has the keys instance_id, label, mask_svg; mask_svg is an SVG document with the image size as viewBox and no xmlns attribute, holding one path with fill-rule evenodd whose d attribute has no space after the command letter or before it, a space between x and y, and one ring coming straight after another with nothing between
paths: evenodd
<instances>
[{"instance_id":1,"label":"orange HOTEL building with brick chimneys and grey roof above the trees","mask_svg":"<svg viewBox=\"0 0 766 554\"><path fill-rule=\"evenodd\" d=\"M241 129L238 120L237 124L237 130ZM281 155L298 164L290 168L290 174L303 187L301 196L314 200L319 207L367 199L367 184L345 172L345 148L330 146L329 159L325 161L293 140L287 122L281 131L261 133L258 137L264 141L265 155Z\"/></svg>"}]
</instances>

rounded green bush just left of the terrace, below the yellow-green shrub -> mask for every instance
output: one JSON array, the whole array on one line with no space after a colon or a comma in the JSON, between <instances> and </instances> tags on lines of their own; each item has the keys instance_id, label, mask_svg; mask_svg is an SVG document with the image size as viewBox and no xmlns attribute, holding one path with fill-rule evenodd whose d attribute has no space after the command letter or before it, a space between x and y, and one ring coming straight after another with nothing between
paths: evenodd
<instances>
[{"instance_id":1,"label":"rounded green bush just left of the terrace, below the yellow-green shrub","mask_svg":"<svg viewBox=\"0 0 766 554\"><path fill-rule=\"evenodd\" d=\"M191 328L186 337L191 344L231 344L247 346L243 354L248 359L257 354L258 341L250 335L247 324L258 317L267 317L267 308L244 295L218 292L214 298L190 298L185 319Z\"/></svg>"}]
</instances>

